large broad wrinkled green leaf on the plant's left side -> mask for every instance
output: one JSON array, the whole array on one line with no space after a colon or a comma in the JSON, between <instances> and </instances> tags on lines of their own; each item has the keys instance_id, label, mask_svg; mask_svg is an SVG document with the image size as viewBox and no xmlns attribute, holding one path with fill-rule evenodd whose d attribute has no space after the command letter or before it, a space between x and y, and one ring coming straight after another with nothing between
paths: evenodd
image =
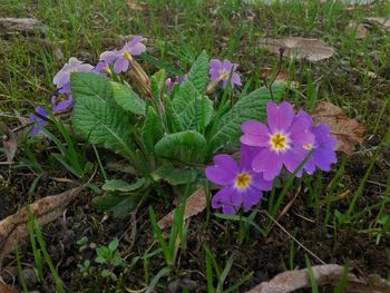
<instances>
[{"instance_id":1,"label":"large broad wrinkled green leaf on the plant's left side","mask_svg":"<svg viewBox=\"0 0 390 293\"><path fill-rule=\"evenodd\" d=\"M114 101L109 79L96 72L74 72L70 85L72 130L90 144L134 157L129 148L131 117Z\"/></svg>"}]
</instances>

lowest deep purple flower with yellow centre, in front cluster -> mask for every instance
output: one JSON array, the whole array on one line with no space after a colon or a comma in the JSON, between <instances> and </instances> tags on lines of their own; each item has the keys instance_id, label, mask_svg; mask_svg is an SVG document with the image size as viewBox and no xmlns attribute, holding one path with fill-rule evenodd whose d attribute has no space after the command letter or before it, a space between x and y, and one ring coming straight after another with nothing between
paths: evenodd
<instances>
[{"instance_id":1,"label":"lowest deep purple flower with yellow centre, in front cluster","mask_svg":"<svg viewBox=\"0 0 390 293\"><path fill-rule=\"evenodd\" d=\"M244 212L247 212L262 199L263 191L271 191L272 182L264 180L262 174L252 170L255 154L255 148L242 146L241 166L230 155L214 156L215 165L206 168L206 177L224 188L213 196L213 208L222 207L224 214L235 214L243 205Z\"/></svg>"}]
</instances>

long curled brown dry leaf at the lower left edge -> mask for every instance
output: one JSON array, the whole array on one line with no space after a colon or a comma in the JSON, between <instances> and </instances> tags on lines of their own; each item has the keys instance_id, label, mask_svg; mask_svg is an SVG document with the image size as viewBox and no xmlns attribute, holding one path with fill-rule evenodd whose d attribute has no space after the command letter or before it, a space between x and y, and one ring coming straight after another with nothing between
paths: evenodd
<instances>
[{"instance_id":1,"label":"long curled brown dry leaf at the lower left edge","mask_svg":"<svg viewBox=\"0 0 390 293\"><path fill-rule=\"evenodd\" d=\"M30 204L30 211L41 226L49 224L64 213L66 206L82 188L84 186L79 186L61 194L43 197ZM3 257L12 252L13 246L28 235L27 223L27 207L0 222L0 266Z\"/></svg>"}]
</instances>

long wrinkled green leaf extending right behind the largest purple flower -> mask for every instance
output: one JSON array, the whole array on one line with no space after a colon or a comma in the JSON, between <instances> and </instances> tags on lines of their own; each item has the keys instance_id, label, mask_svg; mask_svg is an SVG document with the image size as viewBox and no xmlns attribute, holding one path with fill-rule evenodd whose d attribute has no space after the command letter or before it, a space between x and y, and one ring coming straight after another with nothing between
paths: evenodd
<instances>
[{"instance_id":1,"label":"long wrinkled green leaf extending right behind the largest purple flower","mask_svg":"<svg viewBox=\"0 0 390 293\"><path fill-rule=\"evenodd\" d=\"M274 86L273 95L279 97L283 94L284 86ZM271 99L267 88L260 88L246 97L240 99L233 108L224 114L214 125L208 135L209 153L224 147L226 144L237 143L241 135L241 125L247 120L264 120L266 105Z\"/></svg>"}]
</instances>

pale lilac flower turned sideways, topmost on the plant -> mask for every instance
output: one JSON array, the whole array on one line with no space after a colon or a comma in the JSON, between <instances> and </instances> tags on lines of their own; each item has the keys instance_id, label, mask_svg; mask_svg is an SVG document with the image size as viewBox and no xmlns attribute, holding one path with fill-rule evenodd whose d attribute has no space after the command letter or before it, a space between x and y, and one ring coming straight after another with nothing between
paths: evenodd
<instances>
[{"instance_id":1,"label":"pale lilac flower turned sideways, topmost on the plant","mask_svg":"<svg viewBox=\"0 0 390 293\"><path fill-rule=\"evenodd\" d=\"M144 37L135 36L131 41L126 42L124 48L121 48L114 64L114 71L116 74L126 72L133 60L133 56L142 55L146 51L145 45L142 42Z\"/></svg>"}]
</instances>

